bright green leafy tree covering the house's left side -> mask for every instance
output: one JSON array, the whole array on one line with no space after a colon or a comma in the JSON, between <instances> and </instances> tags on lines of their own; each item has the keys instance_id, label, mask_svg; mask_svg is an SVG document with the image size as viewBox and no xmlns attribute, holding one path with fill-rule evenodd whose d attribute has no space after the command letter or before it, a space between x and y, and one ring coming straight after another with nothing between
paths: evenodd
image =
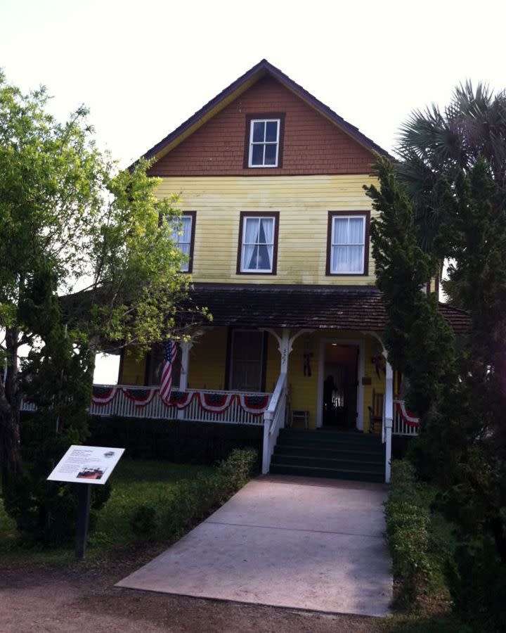
<instances>
[{"instance_id":1,"label":"bright green leafy tree covering the house's left side","mask_svg":"<svg viewBox=\"0 0 506 633\"><path fill-rule=\"evenodd\" d=\"M19 348L47 345L54 354L54 333L64 324L72 354L147 348L174 329L189 283L173 239L176 198L155 197L147 162L118 171L96 148L85 108L61 124L47 101L44 88L22 94L0 75L4 483L21 471ZM56 295L75 290L58 312Z\"/></svg>"}]
</instances>

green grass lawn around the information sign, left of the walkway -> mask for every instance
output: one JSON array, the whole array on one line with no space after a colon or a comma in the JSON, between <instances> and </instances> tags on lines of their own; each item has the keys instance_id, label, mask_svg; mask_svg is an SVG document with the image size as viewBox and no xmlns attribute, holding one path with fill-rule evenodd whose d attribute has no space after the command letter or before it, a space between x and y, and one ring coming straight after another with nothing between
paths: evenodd
<instances>
[{"instance_id":1,"label":"green grass lawn around the information sign, left of the walkway","mask_svg":"<svg viewBox=\"0 0 506 633\"><path fill-rule=\"evenodd\" d=\"M110 482L110 499L98 514L96 529L89 537L88 561L105 558L118 548L136 544L130 519L141 504L160 507L176 490L178 482L212 473L214 468L153 459L119 461ZM4 563L69 564L74 561L73 544L58 549L26 549L20 546L13 521L0 504L0 558Z\"/></svg>"}]
</instances>

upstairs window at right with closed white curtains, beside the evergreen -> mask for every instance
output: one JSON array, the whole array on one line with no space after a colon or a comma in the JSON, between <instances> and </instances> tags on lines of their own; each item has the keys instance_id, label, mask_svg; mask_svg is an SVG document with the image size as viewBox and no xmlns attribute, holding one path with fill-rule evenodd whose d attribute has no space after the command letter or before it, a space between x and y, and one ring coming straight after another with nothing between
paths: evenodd
<instances>
[{"instance_id":1,"label":"upstairs window at right with closed white curtains, beside the evergreen","mask_svg":"<svg viewBox=\"0 0 506 633\"><path fill-rule=\"evenodd\" d=\"M330 212L327 274L367 274L368 215Z\"/></svg>"}]
</instances>

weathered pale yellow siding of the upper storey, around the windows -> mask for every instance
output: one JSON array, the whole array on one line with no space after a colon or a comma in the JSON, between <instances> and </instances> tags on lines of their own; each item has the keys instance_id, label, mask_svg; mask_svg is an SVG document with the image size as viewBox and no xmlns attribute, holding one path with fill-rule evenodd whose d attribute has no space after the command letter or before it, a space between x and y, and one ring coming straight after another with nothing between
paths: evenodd
<instances>
[{"instance_id":1,"label":"weathered pale yellow siding of the upper storey, around the windows","mask_svg":"<svg viewBox=\"0 0 506 633\"><path fill-rule=\"evenodd\" d=\"M370 210L364 184L368 175L170 177L157 195L181 193L179 207L195 210L197 224L193 279L217 283L374 283L369 248L368 276L326 276L329 211ZM278 274L238 275L238 234L241 211L278 211Z\"/></svg>"}]
</instances>

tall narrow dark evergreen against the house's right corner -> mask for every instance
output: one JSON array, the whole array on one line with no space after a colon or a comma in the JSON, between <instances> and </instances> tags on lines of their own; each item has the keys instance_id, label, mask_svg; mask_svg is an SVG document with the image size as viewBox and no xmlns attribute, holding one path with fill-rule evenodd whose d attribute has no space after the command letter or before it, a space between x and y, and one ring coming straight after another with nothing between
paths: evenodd
<instances>
[{"instance_id":1,"label":"tall narrow dark evergreen against the house's right corner","mask_svg":"<svg viewBox=\"0 0 506 633\"><path fill-rule=\"evenodd\" d=\"M380 188L365 187L378 212L371 222L377 286L387 310L384 344L394 369L410 379L408 404L423 418L454 373L454 338L439 314L435 295L424 288L435 276L437 260L417 245L413 205L398 184L394 165L376 164Z\"/></svg>"}]
</instances>

